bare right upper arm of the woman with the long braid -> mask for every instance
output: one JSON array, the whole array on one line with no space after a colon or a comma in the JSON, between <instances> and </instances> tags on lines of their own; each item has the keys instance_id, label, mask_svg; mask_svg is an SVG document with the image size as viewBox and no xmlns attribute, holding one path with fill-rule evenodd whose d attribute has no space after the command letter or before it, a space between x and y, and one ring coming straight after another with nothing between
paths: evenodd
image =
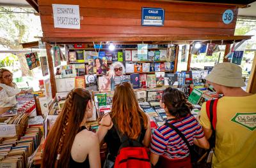
<instances>
[{"instance_id":1,"label":"bare right upper arm of the woman with the long braid","mask_svg":"<svg viewBox=\"0 0 256 168\"><path fill-rule=\"evenodd\" d=\"M88 153L91 168L99 168L100 165L100 147L97 136L93 136L90 151Z\"/></svg>"}]
</instances>

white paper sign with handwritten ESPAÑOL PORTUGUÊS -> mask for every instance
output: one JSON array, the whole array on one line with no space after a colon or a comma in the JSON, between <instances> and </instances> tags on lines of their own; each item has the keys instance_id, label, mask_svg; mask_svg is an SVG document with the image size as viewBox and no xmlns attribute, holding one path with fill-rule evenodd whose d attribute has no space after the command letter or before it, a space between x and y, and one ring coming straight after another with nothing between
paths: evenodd
<instances>
[{"instance_id":1,"label":"white paper sign with handwritten ESPA\u00d1OL PORTUGU\u00caS","mask_svg":"<svg viewBox=\"0 0 256 168\"><path fill-rule=\"evenodd\" d=\"M52 4L54 27L80 29L79 5Z\"/></svg>"}]
</instances>

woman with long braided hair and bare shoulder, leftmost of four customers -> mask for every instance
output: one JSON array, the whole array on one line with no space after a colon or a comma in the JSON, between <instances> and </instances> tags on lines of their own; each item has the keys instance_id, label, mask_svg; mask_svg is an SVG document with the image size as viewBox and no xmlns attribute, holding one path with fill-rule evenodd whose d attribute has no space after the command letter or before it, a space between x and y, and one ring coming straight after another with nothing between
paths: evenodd
<instances>
[{"instance_id":1,"label":"woman with long braided hair and bare shoulder, leftmost of four customers","mask_svg":"<svg viewBox=\"0 0 256 168\"><path fill-rule=\"evenodd\" d=\"M92 95L72 90L45 141L42 167L100 167L99 140L84 126L93 113Z\"/></svg>"}]
</instances>

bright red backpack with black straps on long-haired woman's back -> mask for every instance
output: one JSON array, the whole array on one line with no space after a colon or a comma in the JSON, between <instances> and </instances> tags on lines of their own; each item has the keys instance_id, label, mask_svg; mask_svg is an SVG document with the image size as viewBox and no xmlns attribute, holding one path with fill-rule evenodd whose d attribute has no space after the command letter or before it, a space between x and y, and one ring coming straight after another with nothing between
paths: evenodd
<instances>
[{"instance_id":1,"label":"bright red backpack with black straps on long-haired woman's back","mask_svg":"<svg viewBox=\"0 0 256 168\"><path fill-rule=\"evenodd\" d=\"M126 135L120 135L115 124L114 127L121 142L114 168L150 168L147 150L139 142L141 134L137 140L129 139Z\"/></svg>"}]
</instances>

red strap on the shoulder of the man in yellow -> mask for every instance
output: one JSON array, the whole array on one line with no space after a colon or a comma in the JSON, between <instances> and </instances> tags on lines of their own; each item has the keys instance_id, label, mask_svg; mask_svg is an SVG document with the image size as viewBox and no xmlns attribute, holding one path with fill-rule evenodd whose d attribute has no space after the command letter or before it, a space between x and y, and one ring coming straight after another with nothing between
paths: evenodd
<instances>
[{"instance_id":1,"label":"red strap on the shoulder of the man in yellow","mask_svg":"<svg viewBox=\"0 0 256 168\"><path fill-rule=\"evenodd\" d=\"M218 99L212 99L211 101L206 102L206 112L207 112L207 116L211 122L212 130L216 130L217 103L218 103Z\"/></svg>"}]
</instances>

